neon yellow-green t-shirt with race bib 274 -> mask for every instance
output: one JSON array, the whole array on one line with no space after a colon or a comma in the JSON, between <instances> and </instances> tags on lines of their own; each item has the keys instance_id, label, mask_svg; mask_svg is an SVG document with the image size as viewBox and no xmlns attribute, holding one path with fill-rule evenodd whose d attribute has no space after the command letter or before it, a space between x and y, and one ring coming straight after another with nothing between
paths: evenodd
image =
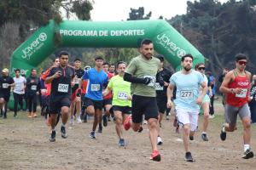
<instances>
[{"instance_id":1,"label":"neon yellow-green t-shirt with race bib 274","mask_svg":"<svg viewBox=\"0 0 256 170\"><path fill-rule=\"evenodd\" d=\"M131 100L128 99L131 95L131 82L126 82L123 77L117 75L110 79L108 88L113 88L112 105L131 107Z\"/></svg>"}]
</instances>

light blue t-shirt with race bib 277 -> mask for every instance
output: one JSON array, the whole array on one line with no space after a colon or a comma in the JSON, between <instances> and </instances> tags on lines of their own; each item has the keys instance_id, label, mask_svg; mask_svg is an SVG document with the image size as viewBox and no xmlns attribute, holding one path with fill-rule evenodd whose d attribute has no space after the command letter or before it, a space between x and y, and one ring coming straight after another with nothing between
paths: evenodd
<instances>
[{"instance_id":1,"label":"light blue t-shirt with race bib 277","mask_svg":"<svg viewBox=\"0 0 256 170\"><path fill-rule=\"evenodd\" d=\"M205 82L204 77L198 71L192 70L188 75L183 75L181 71L178 71L170 78L172 85L177 87L176 99L174 104L178 108L182 108L187 111L195 111L199 109L199 105L195 104L195 100L198 98L198 85Z\"/></svg>"}]
</instances>

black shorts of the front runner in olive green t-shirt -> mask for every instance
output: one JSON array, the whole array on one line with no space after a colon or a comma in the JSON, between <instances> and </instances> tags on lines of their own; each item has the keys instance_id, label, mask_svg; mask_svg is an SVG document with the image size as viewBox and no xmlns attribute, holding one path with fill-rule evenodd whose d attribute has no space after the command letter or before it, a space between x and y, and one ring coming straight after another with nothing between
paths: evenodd
<instances>
[{"instance_id":1,"label":"black shorts of the front runner in olive green t-shirt","mask_svg":"<svg viewBox=\"0 0 256 170\"><path fill-rule=\"evenodd\" d=\"M140 95L132 96L132 122L140 123L142 121L143 114L145 114L145 120L154 118L158 120L158 107L155 97L145 97Z\"/></svg>"}]
</instances>

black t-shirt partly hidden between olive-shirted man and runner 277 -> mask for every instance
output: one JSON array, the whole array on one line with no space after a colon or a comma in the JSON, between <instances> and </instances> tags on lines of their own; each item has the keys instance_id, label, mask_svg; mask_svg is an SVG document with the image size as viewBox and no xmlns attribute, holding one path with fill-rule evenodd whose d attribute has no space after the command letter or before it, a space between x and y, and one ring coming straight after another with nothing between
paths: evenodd
<instances>
[{"instance_id":1,"label":"black t-shirt partly hidden between olive-shirted man and runner 277","mask_svg":"<svg viewBox=\"0 0 256 170\"><path fill-rule=\"evenodd\" d=\"M171 71L169 71L166 68L163 68L163 70L160 71L160 75L165 82L167 82L167 83L170 82L170 78L172 77ZM157 98L162 98L162 97L166 98L167 97L167 94L166 94L167 88L168 88L168 86L161 87L158 80L156 80L156 83L155 83L156 97Z\"/></svg>"}]
</instances>

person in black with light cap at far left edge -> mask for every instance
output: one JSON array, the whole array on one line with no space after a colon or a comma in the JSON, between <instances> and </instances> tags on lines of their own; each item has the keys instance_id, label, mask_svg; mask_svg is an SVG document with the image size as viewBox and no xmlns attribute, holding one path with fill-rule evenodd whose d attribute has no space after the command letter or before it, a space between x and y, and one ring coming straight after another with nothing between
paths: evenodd
<instances>
[{"instance_id":1,"label":"person in black with light cap at far left edge","mask_svg":"<svg viewBox=\"0 0 256 170\"><path fill-rule=\"evenodd\" d=\"M0 77L0 108L1 115L4 119L7 118L6 111L8 110L9 96L12 93L10 87L15 87L15 81L13 77L8 75L9 70L7 68L3 69L3 77ZM3 100L4 100L4 115L3 115Z\"/></svg>"}]
</instances>

